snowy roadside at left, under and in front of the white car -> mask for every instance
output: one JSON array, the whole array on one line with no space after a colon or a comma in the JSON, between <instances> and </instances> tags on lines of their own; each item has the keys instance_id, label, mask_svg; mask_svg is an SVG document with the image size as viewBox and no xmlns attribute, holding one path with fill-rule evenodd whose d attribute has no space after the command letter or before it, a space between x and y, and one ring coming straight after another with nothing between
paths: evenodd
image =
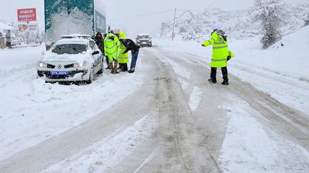
<instances>
[{"instance_id":1,"label":"snowy roadside at left, under and in front of the white car","mask_svg":"<svg viewBox=\"0 0 309 173\"><path fill-rule=\"evenodd\" d=\"M146 73L112 75L106 70L89 85L45 83L36 79L36 63L44 48L0 50L0 160L115 105L142 85ZM141 62L137 67L147 68Z\"/></svg>"}]
</instances>

